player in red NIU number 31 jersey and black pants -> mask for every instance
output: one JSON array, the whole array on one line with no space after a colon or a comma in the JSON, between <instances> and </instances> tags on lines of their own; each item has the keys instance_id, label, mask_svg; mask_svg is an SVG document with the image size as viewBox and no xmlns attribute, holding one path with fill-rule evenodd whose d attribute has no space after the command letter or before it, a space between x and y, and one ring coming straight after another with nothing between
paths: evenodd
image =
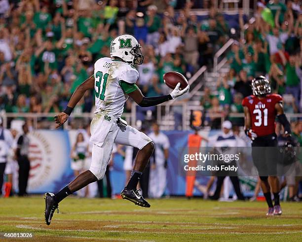
<instances>
[{"instance_id":1,"label":"player in red NIU number 31 jersey and black pants","mask_svg":"<svg viewBox=\"0 0 302 242\"><path fill-rule=\"evenodd\" d=\"M252 81L253 95L243 99L245 115L245 133L252 140L252 157L261 179L261 188L268 204L266 215L281 215L279 202L280 184L277 177L277 135L275 134L275 118L284 126L285 134L290 139L291 125L287 120L282 97L270 94L269 81L260 76ZM255 148L257 147L257 148ZM259 148L269 147L269 148ZM274 194L274 205L271 200Z\"/></svg>"}]
</instances>

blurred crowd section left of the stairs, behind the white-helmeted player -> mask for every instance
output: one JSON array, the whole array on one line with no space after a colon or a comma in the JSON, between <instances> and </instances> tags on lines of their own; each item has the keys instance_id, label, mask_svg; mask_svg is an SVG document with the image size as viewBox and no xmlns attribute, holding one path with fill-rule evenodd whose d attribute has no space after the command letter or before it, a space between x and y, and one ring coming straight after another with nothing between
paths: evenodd
<instances>
[{"instance_id":1,"label":"blurred crowd section left of the stairs, behind the white-helmeted player","mask_svg":"<svg viewBox=\"0 0 302 242\"><path fill-rule=\"evenodd\" d=\"M182 9L175 11L176 5ZM160 95L163 74L188 78L227 40L229 27L211 7L198 21L192 1L0 0L0 112L52 113L66 107L76 87L109 56L118 35L134 35L144 64L138 84L146 96ZM207 2L207 5L208 2ZM130 100L126 111L130 109ZM93 111L87 92L76 113Z\"/></svg>"}]
</instances>

